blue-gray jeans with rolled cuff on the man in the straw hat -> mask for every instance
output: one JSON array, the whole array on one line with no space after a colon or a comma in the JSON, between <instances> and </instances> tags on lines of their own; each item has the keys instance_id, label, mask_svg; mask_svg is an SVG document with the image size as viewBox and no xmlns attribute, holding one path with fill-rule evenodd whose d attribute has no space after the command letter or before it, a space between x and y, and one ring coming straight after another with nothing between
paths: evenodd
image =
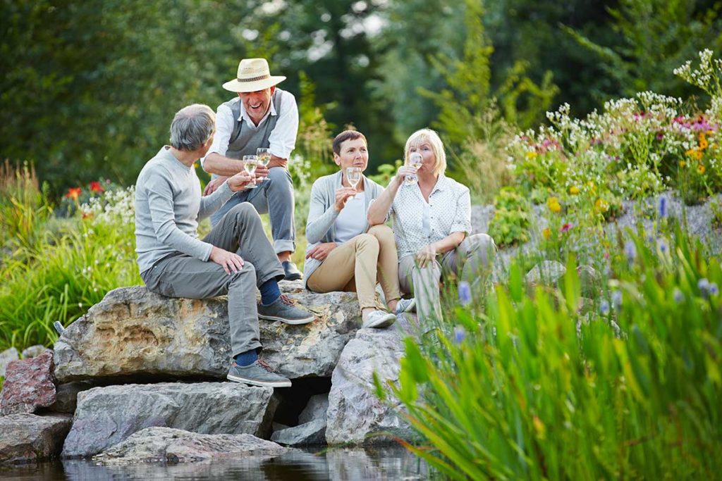
<instances>
[{"instance_id":1,"label":"blue-gray jeans with rolled cuff on the man in the straw hat","mask_svg":"<svg viewBox=\"0 0 722 481\"><path fill-rule=\"evenodd\" d=\"M250 202L258 213L268 213L271 221L273 248L279 252L296 250L296 226L293 219L294 198L293 182L288 169L273 167L264 182L258 182L257 188L235 193L221 208L211 216L211 226L215 226L235 206Z\"/></svg>"}]
</instances>

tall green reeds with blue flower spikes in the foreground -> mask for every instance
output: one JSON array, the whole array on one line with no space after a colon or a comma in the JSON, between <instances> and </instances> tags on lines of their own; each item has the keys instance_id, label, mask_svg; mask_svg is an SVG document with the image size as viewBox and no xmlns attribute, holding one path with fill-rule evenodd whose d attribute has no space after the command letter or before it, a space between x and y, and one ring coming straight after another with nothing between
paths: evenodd
<instances>
[{"instance_id":1,"label":"tall green reeds with blue flower spikes in the foreground","mask_svg":"<svg viewBox=\"0 0 722 481\"><path fill-rule=\"evenodd\" d=\"M559 288L527 294L513 266L483 315L409 340L386 387L425 437L408 449L458 480L718 477L722 269L672 239L620 248L586 314L570 257Z\"/></svg>"}]
</instances>

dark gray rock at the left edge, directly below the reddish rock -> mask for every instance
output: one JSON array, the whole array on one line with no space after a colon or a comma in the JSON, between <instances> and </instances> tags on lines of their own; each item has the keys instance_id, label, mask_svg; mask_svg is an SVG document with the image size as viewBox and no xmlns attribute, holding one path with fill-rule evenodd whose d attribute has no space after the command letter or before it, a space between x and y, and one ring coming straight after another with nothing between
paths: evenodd
<instances>
[{"instance_id":1,"label":"dark gray rock at the left edge, directly below the reddish rock","mask_svg":"<svg viewBox=\"0 0 722 481\"><path fill-rule=\"evenodd\" d=\"M57 456L70 416L11 414L0 418L0 463L27 463Z\"/></svg>"}]
</instances>

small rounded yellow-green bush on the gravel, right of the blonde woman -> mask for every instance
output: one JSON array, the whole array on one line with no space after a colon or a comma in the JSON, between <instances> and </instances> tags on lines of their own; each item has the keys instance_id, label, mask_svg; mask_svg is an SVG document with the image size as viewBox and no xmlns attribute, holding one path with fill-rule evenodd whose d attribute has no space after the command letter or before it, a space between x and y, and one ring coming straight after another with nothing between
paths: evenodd
<instances>
[{"instance_id":1,"label":"small rounded yellow-green bush on the gravel, right of the blonde woman","mask_svg":"<svg viewBox=\"0 0 722 481\"><path fill-rule=\"evenodd\" d=\"M494 217L489 235L499 246L529 241L531 206L529 200L510 187L504 187L494 199Z\"/></svg>"}]
</instances>

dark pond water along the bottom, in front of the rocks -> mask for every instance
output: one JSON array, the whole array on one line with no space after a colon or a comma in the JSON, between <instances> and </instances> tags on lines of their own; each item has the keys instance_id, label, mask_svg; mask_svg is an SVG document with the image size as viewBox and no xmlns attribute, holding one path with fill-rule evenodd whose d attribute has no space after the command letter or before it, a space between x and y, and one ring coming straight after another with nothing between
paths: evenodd
<instances>
[{"instance_id":1,"label":"dark pond water along the bottom, in front of the rocks","mask_svg":"<svg viewBox=\"0 0 722 481\"><path fill-rule=\"evenodd\" d=\"M102 466L67 460L0 467L2 480L423 480L424 462L399 446L295 449L282 456L179 463Z\"/></svg>"}]
</instances>

